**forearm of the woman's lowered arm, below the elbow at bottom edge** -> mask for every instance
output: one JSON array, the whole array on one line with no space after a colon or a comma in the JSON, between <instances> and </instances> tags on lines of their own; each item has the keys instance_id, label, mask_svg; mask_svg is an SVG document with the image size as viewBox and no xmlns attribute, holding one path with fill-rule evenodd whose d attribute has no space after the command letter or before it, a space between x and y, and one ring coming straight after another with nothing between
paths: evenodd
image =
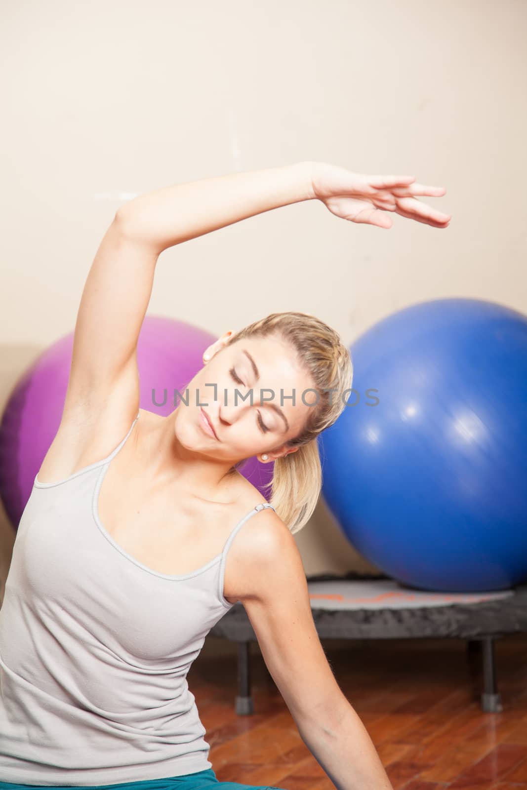
<instances>
[{"instance_id":1,"label":"forearm of the woman's lowered arm, below the elbow at bottom edge","mask_svg":"<svg viewBox=\"0 0 527 790\"><path fill-rule=\"evenodd\" d=\"M393 790L363 722L347 700L329 721L298 723L303 742L337 790Z\"/></svg>"}]
</instances>

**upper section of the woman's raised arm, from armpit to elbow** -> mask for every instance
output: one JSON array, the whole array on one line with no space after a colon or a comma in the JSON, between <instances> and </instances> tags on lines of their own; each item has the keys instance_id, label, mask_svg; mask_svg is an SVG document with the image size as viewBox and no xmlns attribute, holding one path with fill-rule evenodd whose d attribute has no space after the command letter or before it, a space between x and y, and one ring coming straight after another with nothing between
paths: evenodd
<instances>
[{"instance_id":1,"label":"upper section of the woman's raised arm, from armpit to elbow","mask_svg":"<svg viewBox=\"0 0 527 790\"><path fill-rule=\"evenodd\" d=\"M126 237L119 212L92 262L73 336L62 428L117 416L115 435L139 407L137 340L145 318L158 254ZM111 441L111 438L109 438Z\"/></svg>"}]
</instances>

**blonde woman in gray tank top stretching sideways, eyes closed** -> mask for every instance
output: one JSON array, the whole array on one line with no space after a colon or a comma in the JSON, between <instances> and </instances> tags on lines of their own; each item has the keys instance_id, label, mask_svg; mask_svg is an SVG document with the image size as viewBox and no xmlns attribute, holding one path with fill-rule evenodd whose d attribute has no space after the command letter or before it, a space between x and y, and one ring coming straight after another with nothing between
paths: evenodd
<instances>
[{"instance_id":1,"label":"blonde woman in gray tank top stretching sideways, eyes closed","mask_svg":"<svg viewBox=\"0 0 527 790\"><path fill-rule=\"evenodd\" d=\"M190 397L162 418L139 408L136 346L170 246L313 199L356 223L390 228L394 211L445 228L450 217L417 199L444 193L300 162L178 184L118 210L86 280L62 421L0 611L2 790L247 787L218 782L186 683L236 601L337 788L391 787L329 668L292 536L320 493L317 436L351 387L346 348L311 315L270 314L204 349ZM212 280L213 270L202 278ZM275 464L269 503L237 468L255 455Z\"/></svg>"}]
</instances>

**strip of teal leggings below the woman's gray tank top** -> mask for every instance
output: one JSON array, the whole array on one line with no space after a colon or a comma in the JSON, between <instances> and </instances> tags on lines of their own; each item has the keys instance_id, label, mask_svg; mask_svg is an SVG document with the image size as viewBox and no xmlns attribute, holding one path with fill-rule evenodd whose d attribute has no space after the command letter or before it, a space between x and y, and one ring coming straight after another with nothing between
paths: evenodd
<instances>
[{"instance_id":1,"label":"strip of teal leggings below the woman's gray tank top","mask_svg":"<svg viewBox=\"0 0 527 790\"><path fill-rule=\"evenodd\" d=\"M13 784L0 781L0 790L70 790L81 788L80 784ZM239 782L220 782L212 768L197 773L185 773L182 777L166 779L145 779L140 782L120 782L119 784L82 785L82 790L280 790L273 784L239 784Z\"/></svg>"}]
</instances>

